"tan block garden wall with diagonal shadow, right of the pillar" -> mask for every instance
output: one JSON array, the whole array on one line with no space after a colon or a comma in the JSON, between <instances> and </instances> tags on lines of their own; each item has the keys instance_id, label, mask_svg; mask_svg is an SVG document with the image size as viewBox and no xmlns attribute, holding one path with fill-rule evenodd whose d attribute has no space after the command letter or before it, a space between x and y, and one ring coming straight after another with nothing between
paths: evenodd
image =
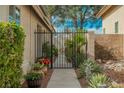
<instances>
[{"instance_id":1,"label":"tan block garden wall with diagonal shadow, right of the pillar","mask_svg":"<svg viewBox=\"0 0 124 93\"><path fill-rule=\"evenodd\" d=\"M95 59L102 60L124 59L124 35L122 34L95 35Z\"/></svg>"}]
</instances>

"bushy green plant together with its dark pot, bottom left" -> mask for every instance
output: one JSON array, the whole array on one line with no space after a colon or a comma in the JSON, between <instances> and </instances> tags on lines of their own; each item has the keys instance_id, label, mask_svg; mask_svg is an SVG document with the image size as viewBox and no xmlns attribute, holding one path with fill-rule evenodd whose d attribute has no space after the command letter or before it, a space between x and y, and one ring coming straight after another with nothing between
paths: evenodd
<instances>
[{"instance_id":1,"label":"bushy green plant together with its dark pot, bottom left","mask_svg":"<svg viewBox=\"0 0 124 93\"><path fill-rule=\"evenodd\" d=\"M41 86L43 74L30 72L25 76L29 88L38 88Z\"/></svg>"}]
</instances>

